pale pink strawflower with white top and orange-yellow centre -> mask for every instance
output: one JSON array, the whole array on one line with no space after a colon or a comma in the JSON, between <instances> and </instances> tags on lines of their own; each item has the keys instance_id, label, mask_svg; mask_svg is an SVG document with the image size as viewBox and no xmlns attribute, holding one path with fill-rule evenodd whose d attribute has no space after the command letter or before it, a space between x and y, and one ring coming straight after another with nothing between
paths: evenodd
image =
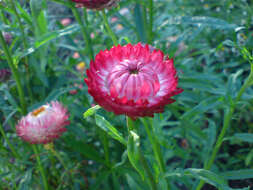
<instances>
[{"instance_id":1,"label":"pale pink strawflower with white top and orange-yellow centre","mask_svg":"<svg viewBox=\"0 0 253 190\"><path fill-rule=\"evenodd\" d=\"M68 118L67 109L58 101L52 101L21 118L16 132L31 144L50 143L66 131Z\"/></svg>"}]
</instances>

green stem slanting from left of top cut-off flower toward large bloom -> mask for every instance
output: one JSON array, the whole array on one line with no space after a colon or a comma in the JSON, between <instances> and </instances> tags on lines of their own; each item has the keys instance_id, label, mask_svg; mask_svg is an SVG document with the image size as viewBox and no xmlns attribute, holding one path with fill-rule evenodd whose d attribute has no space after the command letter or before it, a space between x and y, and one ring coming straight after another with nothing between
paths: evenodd
<instances>
[{"instance_id":1,"label":"green stem slanting from left of top cut-off flower toward large bloom","mask_svg":"<svg viewBox=\"0 0 253 190\"><path fill-rule=\"evenodd\" d=\"M82 21L82 18L81 18L81 15L79 14L79 12L77 11L77 9L75 7L72 8L72 12L73 12L78 24L81 27L81 31L82 31L82 34L83 34L83 39L86 43L89 58L93 59L94 58L94 52L93 52L93 48L91 46L91 39L89 37L89 33L87 32L88 28L87 28L87 26L84 25L84 23Z\"/></svg>"}]
</instances>

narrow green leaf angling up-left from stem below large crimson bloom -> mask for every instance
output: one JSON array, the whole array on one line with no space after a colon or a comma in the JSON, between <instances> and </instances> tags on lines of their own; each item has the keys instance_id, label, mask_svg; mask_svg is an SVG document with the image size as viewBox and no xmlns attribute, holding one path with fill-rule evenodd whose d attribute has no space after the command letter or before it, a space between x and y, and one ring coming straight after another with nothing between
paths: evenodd
<instances>
[{"instance_id":1,"label":"narrow green leaf angling up-left from stem below large crimson bloom","mask_svg":"<svg viewBox=\"0 0 253 190\"><path fill-rule=\"evenodd\" d=\"M109 121L107 121L104 117L96 114L95 120L96 120L97 126L99 126L102 130L104 130L109 136L111 136L112 138L114 138L115 140L119 141L120 143L124 145L127 144L122 134L115 127L113 127L109 123Z\"/></svg>"}]
</instances>

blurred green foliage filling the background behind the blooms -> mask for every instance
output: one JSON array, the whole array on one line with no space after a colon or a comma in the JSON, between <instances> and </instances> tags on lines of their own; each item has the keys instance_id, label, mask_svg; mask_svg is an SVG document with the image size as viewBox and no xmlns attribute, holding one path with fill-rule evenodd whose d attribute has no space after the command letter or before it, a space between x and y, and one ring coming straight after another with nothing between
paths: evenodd
<instances>
[{"instance_id":1,"label":"blurred green foliage filling the background behind the blooms","mask_svg":"<svg viewBox=\"0 0 253 190\"><path fill-rule=\"evenodd\" d=\"M184 89L149 122L166 163L164 176L158 175L144 125L137 128L155 179L164 179L158 189L168 188L164 181L172 190L196 189L199 180L207 183L204 190L253 187L253 92L239 93L252 65L252 6L250 0L121 0L97 12L67 0L0 1L0 189L43 189L36 156L49 189L149 189L105 127L106 119L126 139L125 117L99 109L83 118L94 106L84 70L113 45L105 16L119 44L150 43L174 58ZM9 69L17 71L19 83ZM52 100L70 110L71 124L53 145L38 146L35 156L15 125L26 108ZM216 159L203 170L224 116L232 122Z\"/></svg>"}]
</instances>

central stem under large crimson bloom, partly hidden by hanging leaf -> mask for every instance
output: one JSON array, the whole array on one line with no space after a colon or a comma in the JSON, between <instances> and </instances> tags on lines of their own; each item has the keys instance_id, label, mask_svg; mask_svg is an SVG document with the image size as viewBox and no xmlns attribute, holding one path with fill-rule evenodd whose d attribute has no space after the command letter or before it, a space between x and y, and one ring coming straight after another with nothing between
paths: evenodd
<instances>
[{"instance_id":1,"label":"central stem under large crimson bloom, partly hidden by hanging leaf","mask_svg":"<svg viewBox=\"0 0 253 190\"><path fill-rule=\"evenodd\" d=\"M134 129L134 121L128 116L126 117L126 119L127 119L128 132L130 133L130 131L132 131ZM151 188L152 188L152 190L157 190L157 185L156 185L154 176L148 166L148 163L147 163L140 148L138 148L138 151L139 151L139 155L140 155L140 163L142 164L143 169L145 170L145 173L148 175L148 179L149 179Z\"/></svg>"}]
</instances>

